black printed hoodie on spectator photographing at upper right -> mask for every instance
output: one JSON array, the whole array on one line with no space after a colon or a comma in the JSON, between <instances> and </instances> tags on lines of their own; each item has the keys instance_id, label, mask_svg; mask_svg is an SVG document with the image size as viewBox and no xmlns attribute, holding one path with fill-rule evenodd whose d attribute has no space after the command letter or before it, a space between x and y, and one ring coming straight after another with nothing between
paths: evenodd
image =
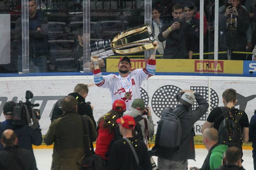
<instances>
[{"instance_id":1,"label":"black printed hoodie on spectator photographing at upper right","mask_svg":"<svg viewBox=\"0 0 256 170\"><path fill-rule=\"evenodd\" d=\"M246 47L246 31L249 28L250 16L242 7L237 9L238 16L225 17L225 10L220 13L219 30L225 32L227 47L230 50L239 50Z\"/></svg>"}]
</instances>

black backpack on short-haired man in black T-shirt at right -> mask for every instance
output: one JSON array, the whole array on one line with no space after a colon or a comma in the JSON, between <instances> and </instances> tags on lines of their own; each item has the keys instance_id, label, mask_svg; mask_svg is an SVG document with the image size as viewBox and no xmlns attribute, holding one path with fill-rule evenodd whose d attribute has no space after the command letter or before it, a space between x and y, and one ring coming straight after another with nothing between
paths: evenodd
<instances>
[{"instance_id":1,"label":"black backpack on short-haired man in black T-shirt at right","mask_svg":"<svg viewBox=\"0 0 256 170\"><path fill-rule=\"evenodd\" d=\"M237 146L240 148L242 146L242 129L239 124L244 111L239 110L236 116L229 114L228 112L234 108L228 109L227 107L220 107L222 114L216 119L218 120L223 115L223 120L219 126L219 143L228 146Z\"/></svg>"}]
</instances>

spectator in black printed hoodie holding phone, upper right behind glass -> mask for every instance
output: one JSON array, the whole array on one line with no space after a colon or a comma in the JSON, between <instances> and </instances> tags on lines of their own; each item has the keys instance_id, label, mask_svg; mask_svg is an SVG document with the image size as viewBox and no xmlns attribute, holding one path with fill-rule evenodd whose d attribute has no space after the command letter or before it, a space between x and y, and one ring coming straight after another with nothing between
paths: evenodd
<instances>
[{"instance_id":1,"label":"spectator in black printed hoodie holding phone, upper right behind glass","mask_svg":"<svg viewBox=\"0 0 256 170\"><path fill-rule=\"evenodd\" d=\"M228 5L228 3L232 3ZM227 8L220 13L219 30L220 34L225 32L228 50L246 52L246 31L249 28L250 17L239 0L228 0ZM231 53L232 60L245 60L246 55Z\"/></svg>"}]
</instances>

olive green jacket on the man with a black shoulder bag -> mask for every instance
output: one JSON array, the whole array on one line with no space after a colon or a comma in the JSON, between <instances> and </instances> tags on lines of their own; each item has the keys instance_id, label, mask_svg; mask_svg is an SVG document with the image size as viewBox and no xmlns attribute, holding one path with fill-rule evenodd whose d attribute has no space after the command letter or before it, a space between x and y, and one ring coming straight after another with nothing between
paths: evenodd
<instances>
[{"instance_id":1,"label":"olive green jacket on the man with a black shoulder bag","mask_svg":"<svg viewBox=\"0 0 256 170\"><path fill-rule=\"evenodd\" d=\"M52 145L54 142L51 170L79 170L77 161L84 155L84 132L81 118L81 115L74 112L66 113L52 121L44 136L46 145ZM95 141L97 132L92 120L90 118L89 120L92 127L90 138ZM88 129L87 123L86 126Z\"/></svg>"}]
</instances>

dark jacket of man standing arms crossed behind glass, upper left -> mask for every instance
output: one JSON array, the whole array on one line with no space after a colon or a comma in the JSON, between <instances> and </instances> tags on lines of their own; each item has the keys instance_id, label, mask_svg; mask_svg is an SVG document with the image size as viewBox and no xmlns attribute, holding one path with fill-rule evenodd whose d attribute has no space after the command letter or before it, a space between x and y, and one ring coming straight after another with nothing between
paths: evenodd
<instances>
[{"instance_id":1,"label":"dark jacket of man standing arms crossed behind glass, upper left","mask_svg":"<svg viewBox=\"0 0 256 170\"><path fill-rule=\"evenodd\" d=\"M40 27L40 31L36 31ZM22 55L22 32L21 32L21 18L17 19L15 26L15 38L19 41L18 50L19 55ZM41 11L36 10L36 16L34 18L29 17L29 56L49 56L48 44L47 44L47 30L48 19Z\"/></svg>"}]
</instances>

